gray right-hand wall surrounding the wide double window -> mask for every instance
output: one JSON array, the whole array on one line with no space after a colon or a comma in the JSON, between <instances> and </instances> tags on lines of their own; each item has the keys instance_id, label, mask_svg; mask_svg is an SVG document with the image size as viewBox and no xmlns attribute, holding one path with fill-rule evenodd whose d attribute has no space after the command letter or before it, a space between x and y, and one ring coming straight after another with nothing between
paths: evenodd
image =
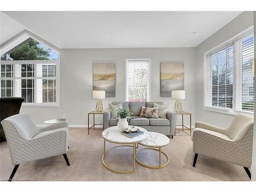
<instances>
[{"instance_id":1,"label":"gray right-hand wall surrounding the wide double window","mask_svg":"<svg viewBox=\"0 0 256 192\"><path fill-rule=\"evenodd\" d=\"M204 58L203 54L225 40L253 25L253 12L243 12L219 31L196 47L196 121L205 121L218 126L228 126L232 115L203 110Z\"/></svg>"}]
</instances>

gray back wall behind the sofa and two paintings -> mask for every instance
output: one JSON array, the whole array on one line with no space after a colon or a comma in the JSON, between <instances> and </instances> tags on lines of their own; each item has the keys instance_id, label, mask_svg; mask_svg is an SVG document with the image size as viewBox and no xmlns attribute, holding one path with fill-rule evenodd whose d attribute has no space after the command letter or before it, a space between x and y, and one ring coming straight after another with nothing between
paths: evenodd
<instances>
[{"instance_id":1,"label":"gray back wall behind the sofa and two paintings","mask_svg":"<svg viewBox=\"0 0 256 192\"><path fill-rule=\"evenodd\" d=\"M87 113L95 109L96 102L92 99L92 63L116 62L116 97L103 100L106 109L109 102L125 99L125 58L151 58L151 100L168 103L170 110L174 109L175 101L160 97L160 62L184 62L186 99L182 104L185 111L193 114L194 122L195 54L195 48L63 49L60 54L60 107L22 108L21 112L29 113L37 124L62 118L65 114L71 125L85 125ZM101 118L98 121L101 122ZM185 122L189 122L188 118Z\"/></svg>"}]
</instances>

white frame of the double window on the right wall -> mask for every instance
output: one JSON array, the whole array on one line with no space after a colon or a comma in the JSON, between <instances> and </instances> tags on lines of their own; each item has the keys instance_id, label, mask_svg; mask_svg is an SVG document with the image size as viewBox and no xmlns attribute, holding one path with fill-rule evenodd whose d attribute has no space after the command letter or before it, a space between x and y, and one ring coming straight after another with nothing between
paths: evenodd
<instances>
[{"instance_id":1,"label":"white frame of the double window on the right wall","mask_svg":"<svg viewBox=\"0 0 256 192\"><path fill-rule=\"evenodd\" d=\"M237 114L247 114L247 115L253 115L254 112L250 111L244 111L244 110L238 110L238 83L239 80L241 80L241 73L242 73L242 66L240 66L241 61L239 60L242 55L239 56L238 48L237 48L237 40L243 39L245 37L248 37L250 35L253 35L253 26L248 27L247 29L243 30L242 32L232 36L231 38L227 39L226 41L222 42L220 45L210 49L209 51L206 51L203 55L204 57L204 98L203 98L203 110L213 111L213 112L219 112L229 115L237 115ZM208 78L208 60L209 55L215 52L218 52L222 49L224 49L227 46L233 45L233 93L232 93L232 108L219 108L217 106L207 106L206 105L206 99L207 99L207 78ZM240 71L237 71L239 69ZM255 107L255 106L254 106Z\"/></svg>"}]
</instances>

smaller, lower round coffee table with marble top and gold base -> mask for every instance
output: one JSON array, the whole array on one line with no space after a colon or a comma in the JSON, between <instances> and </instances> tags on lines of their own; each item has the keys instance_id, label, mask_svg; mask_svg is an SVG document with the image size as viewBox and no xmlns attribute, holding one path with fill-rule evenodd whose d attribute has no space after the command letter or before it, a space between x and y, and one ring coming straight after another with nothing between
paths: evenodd
<instances>
[{"instance_id":1,"label":"smaller, lower round coffee table with marble top and gold base","mask_svg":"<svg viewBox=\"0 0 256 192\"><path fill-rule=\"evenodd\" d=\"M156 133L156 132L148 132L148 137L145 140L140 141L138 144L146 146L145 148L142 148L141 150L155 150L159 152L159 165L158 166L153 166L153 165L147 165L142 163L141 161L138 160L138 158L136 157L136 161L144 166L144 167L148 167L148 168L163 168L165 167L168 163L169 163L169 157L166 153L164 153L162 151L162 147L166 146L168 143L170 142L170 139L161 134L161 133ZM141 151L138 150L136 152L136 155ZM161 154L165 155L165 157L167 158L167 162L165 164L161 164Z\"/></svg>"}]
</instances>

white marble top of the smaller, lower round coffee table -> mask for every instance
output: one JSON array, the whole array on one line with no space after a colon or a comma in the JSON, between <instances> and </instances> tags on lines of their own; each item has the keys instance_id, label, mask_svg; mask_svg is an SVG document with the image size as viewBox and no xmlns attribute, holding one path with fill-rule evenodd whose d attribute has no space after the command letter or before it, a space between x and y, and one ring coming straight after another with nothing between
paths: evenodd
<instances>
[{"instance_id":1,"label":"white marble top of the smaller, lower round coffee table","mask_svg":"<svg viewBox=\"0 0 256 192\"><path fill-rule=\"evenodd\" d=\"M170 139L161 133L148 132L148 137L139 143L149 147L162 147L167 145L169 142Z\"/></svg>"}]
</instances>

